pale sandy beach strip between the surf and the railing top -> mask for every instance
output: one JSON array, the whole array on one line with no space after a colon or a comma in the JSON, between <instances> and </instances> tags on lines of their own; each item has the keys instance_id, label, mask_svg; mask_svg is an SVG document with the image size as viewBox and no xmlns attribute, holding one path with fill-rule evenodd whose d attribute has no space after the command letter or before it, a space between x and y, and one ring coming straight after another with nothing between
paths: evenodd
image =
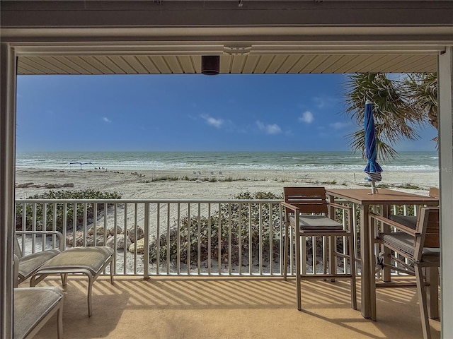
<instances>
[{"instance_id":1,"label":"pale sandy beach strip between the surf and the railing top","mask_svg":"<svg viewBox=\"0 0 453 339\"><path fill-rule=\"evenodd\" d=\"M355 188L367 185L364 172L302 172L234 170L201 172L188 169L117 171L105 169L17 169L16 198L27 198L50 189L116 191L125 199L231 199L241 192L270 191L284 186ZM171 178L171 179L167 179ZM390 189L428 194L438 187L438 172L383 172ZM59 186L63 186L58 188ZM413 187L413 188L410 188ZM50 188L56 187L56 188Z\"/></svg>"}]
</instances>

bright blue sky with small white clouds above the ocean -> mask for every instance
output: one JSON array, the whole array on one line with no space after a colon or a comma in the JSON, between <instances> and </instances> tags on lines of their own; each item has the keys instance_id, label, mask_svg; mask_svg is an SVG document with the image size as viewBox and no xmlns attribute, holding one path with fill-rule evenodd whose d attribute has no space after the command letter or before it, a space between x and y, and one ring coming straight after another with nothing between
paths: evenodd
<instances>
[{"instance_id":1,"label":"bright blue sky with small white clouds above the ocean","mask_svg":"<svg viewBox=\"0 0 453 339\"><path fill-rule=\"evenodd\" d=\"M350 150L345 76L19 76L18 151ZM397 150L435 150L435 129Z\"/></svg>"}]
</instances>

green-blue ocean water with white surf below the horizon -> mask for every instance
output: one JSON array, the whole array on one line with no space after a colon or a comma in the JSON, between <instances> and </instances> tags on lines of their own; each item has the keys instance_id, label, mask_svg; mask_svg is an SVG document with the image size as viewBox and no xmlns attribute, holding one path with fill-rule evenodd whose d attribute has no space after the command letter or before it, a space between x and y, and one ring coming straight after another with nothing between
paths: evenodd
<instances>
[{"instance_id":1,"label":"green-blue ocean water with white surf below the horizon","mask_svg":"<svg viewBox=\"0 0 453 339\"><path fill-rule=\"evenodd\" d=\"M379 162L384 172L437 172L435 152L401 152L398 158ZM71 164L71 162L81 162ZM86 163L88 162L88 163ZM165 170L363 170L366 161L350 152L18 152L16 169Z\"/></svg>"}]
</instances>

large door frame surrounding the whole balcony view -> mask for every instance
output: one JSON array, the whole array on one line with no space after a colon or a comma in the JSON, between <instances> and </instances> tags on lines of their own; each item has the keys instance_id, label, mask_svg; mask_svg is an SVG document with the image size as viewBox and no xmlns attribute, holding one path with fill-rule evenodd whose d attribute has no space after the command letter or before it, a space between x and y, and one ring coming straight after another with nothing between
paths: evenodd
<instances>
[{"instance_id":1,"label":"large door frame surrounding the whole balcony view","mask_svg":"<svg viewBox=\"0 0 453 339\"><path fill-rule=\"evenodd\" d=\"M7 285L12 283L13 242L11 227L5 226L11 225L13 220L14 201L16 61L13 49L6 43L11 42L23 55L49 55L58 50L79 55L92 54L96 50L117 54L149 53L158 49L157 45L164 45L157 51L159 54L168 51L173 55L178 51L220 54L225 52L225 47L226 51L251 47L248 51L251 54L297 54L320 50L326 55L339 51L357 54L379 54L383 50L440 52L442 336L453 338L453 323L448 321L453 314L453 272L447 266L453 260L450 244L453 239L452 1L360 1L360 6L353 1L288 1L297 5L297 10L292 11L279 8L280 4L275 1L265 1L267 11L258 8L262 5L260 1L253 1L253 6L258 8L255 10L247 8L250 4L237 9L233 1L224 2L234 6L217 10L200 7L210 1L188 1L187 4L185 1L177 1L180 4L139 1L141 6L134 10L122 7L113 10L110 6L129 6L128 1L102 1L104 8L109 8L103 11L90 9L91 2L60 1L58 10L45 11L42 6L52 9L52 1L2 1L0 269L6 272L1 278L6 285L1 285L0 297L1 310L6 314L1 319L1 331L11 330L11 323L8 323L11 313L7 314L11 290ZM195 10L185 11L189 5L195 6ZM152 10L150 6L154 6ZM320 8L324 11L319 11ZM36 14L38 9L40 15ZM411 15L407 15L408 10ZM355 15L350 15L350 11L355 11ZM8 337L2 332L2 338Z\"/></svg>"}]
</instances>

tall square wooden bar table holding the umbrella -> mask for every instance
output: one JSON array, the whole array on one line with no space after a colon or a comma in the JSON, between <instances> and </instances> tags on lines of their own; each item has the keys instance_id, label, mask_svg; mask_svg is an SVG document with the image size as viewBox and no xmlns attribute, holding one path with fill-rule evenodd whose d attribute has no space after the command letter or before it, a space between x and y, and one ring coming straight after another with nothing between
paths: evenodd
<instances>
[{"instance_id":1,"label":"tall square wooden bar table holding the umbrella","mask_svg":"<svg viewBox=\"0 0 453 339\"><path fill-rule=\"evenodd\" d=\"M360 206L360 283L361 313L364 318L376 320L375 307L372 307L371 284L374 283L374 263L371 262L372 245L371 227L368 221L370 206L382 206L382 214L388 216L392 205L438 206L439 199L420 196L391 189L378 189L371 194L371 189L326 189L328 201L343 199Z\"/></svg>"}]
</instances>

